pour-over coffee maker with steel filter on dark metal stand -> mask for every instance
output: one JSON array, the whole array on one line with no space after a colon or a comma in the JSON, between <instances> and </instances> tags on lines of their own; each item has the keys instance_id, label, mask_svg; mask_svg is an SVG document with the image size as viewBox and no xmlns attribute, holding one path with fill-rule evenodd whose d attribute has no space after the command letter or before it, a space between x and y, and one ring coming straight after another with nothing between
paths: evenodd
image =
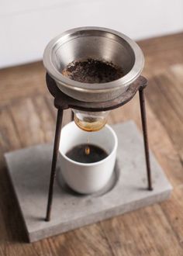
<instances>
[{"instance_id":1,"label":"pour-over coffee maker with steel filter on dark metal stand","mask_svg":"<svg viewBox=\"0 0 183 256\"><path fill-rule=\"evenodd\" d=\"M77 81L64 75L64 70L69 65L88 60L119 67L123 70L123 74L115 80L100 83ZM140 76L143 62L140 47L129 37L112 29L99 27L71 29L48 43L43 54L43 64L47 69L47 86L54 96L54 106L58 112L47 202L47 221L50 220L64 109L73 110L74 121L82 130L100 130L105 126L109 111L123 106L139 91L148 189L152 189L143 96L143 88L146 87L147 80ZM82 72L85 73L85 70Z\"/></svg>"}]
</instances>

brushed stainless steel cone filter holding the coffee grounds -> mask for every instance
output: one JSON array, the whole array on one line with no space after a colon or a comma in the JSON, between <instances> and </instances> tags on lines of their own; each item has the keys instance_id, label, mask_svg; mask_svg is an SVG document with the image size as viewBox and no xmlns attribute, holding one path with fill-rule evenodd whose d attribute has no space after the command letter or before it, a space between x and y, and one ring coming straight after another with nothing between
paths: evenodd
<instances>
[{"instance_id":1,"label":"brushed stainless steel cone filter holding the coffee grounds","mask_svg":"<svg viewBox=\"0 0 183 256\"><path fill-rule=\"evenodd\" d=\"M88 58L112 62L123 69L123 77L107 83L83 83L65 77L61 72L72 61ZM48 43L43 64L58 88L84 102L105 102L126 91L140 76L143 53L129 37L112 29L81 27L68 30Z\"/></svg>"}]
</instances>

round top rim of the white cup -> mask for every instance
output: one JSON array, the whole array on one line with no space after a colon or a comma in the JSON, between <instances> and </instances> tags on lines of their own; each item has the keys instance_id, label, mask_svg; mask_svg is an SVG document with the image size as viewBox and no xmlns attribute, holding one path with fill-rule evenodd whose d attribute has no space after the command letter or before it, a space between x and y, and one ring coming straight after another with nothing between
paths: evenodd
<instances>
[{"instance_id":1,"label":"round top rim of the white cup","mask_svg":"<svg viewBox=\"0 0 183 256\"><path fill-rule=\"evenodd\" d=\"M70 122L70 123L67 123L66 126L63 127L63 129L66 129L67 126L69 125L72 125L74 123L74 121ZM74 123L75 124L75 123ZM114 147L112 148L112 151L111 153L105 157L104 159L102 159L101 161L97 161L97 162L94 162L94 163L81 163L81 162L78 162L78 161L74 161L72 160L71 158L67 157L61 150L60 150L60 145L59 145L59 153L62 155L62 157L64 157L65 160L71 162L72 164L76 164L76 165L79 165L79 166L85 166L85 167L91 167L91 166L95 166L95 165L98 165L98 164L102 164L103 162L107 161L109 159L109 157L112 156L112 154L115 153L117 147L118 147L118 138L117 138L117 135L115 133L115 131L112 129L111 126L109 126L109 124L105 124L104 128L107 128L111 133L112 133L112 136L114 138ZM78 128L79 129L79 128ZM103 128L102 128L103 129ZM95 133L95 132L94 132ZM60 140L61 141L61 140ZM61 142L60 142L61 143Z\"/></svg>"}]
</instances>

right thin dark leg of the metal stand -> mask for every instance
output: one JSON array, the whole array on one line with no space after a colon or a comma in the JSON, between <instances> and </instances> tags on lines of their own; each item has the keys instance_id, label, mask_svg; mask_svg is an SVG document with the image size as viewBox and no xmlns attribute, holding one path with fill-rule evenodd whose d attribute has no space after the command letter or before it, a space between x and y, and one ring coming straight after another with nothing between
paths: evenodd
<instances>
[{"instance_id":1,"label":"right thin dark leg of the metal stand","mask_svg":"<svg viewBox=\"0 0 183 256\"><path fill-rule=\"evenodd\" d=\"M143 144L144 144L146 164L147 164L148 189L153 190L152 182L151 182L151 173L150 173L150 155L149 155L149 145L148 145L148 137L147 137L147 119L146 119L146 108L145 108L143 88L140 88L139 96L140 96L140 112L141 112L142 127L143 127Z\"/></svg>"}]
</instances>

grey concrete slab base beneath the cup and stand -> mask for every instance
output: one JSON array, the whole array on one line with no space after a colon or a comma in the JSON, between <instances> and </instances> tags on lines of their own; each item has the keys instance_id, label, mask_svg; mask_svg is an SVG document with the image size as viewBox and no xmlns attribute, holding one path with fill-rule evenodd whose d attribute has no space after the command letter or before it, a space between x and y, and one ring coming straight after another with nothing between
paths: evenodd
<instances>
[{"instance_id":1,"label":"grey concrete slab base beneath the cup and stand","mask_svg":"<svg viewBox=\"0 0 183 256\"><path fill-rule=\"evenodd\" d=\"M149 206L170 196L171 184L151 153L154 190L146 189L143 138L136 125L130 121L112 127L116 130L119 148L118 164L109 185L95 195L78 195L64 182L60 186L56 181L50 222L45 222L44 217L53 145L43 144L5 154L30 242Z\"/></svg>"}]
</instances>

